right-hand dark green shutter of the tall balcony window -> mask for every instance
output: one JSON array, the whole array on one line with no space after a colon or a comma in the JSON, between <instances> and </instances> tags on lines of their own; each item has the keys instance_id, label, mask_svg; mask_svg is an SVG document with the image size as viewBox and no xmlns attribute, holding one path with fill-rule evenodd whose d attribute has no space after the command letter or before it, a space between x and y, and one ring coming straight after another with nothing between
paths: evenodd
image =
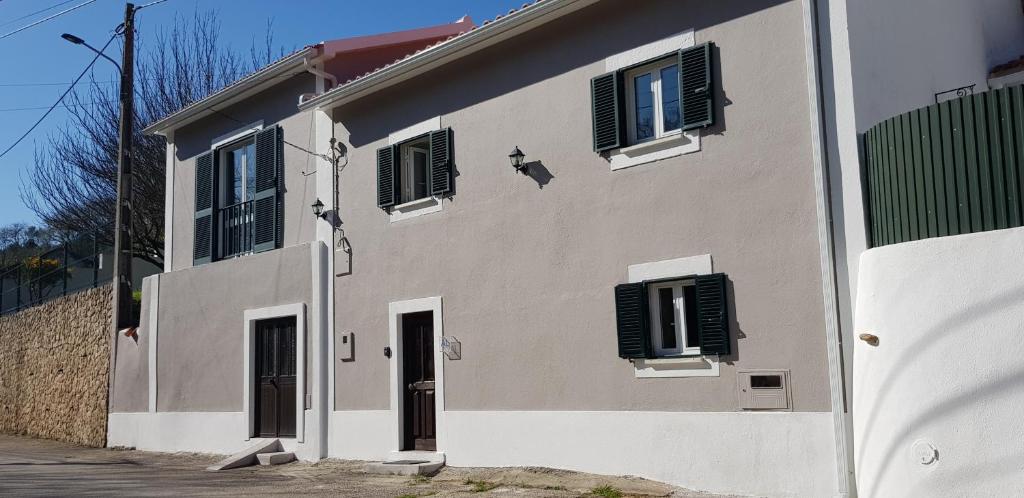
<instances>
[{"instance_id":1,"label":"right-hand dark green shutter of the tall balcony window","mask_svg":"<svg viewBox=\"0 0 1024 498\"><path fill-rule=\"evenodd\" d=\"M253 198L253 252L263 252L280 245L281 169L284 159L281 127L271 126L256 133L256 195Z\"/></svg>"}]
</instances>

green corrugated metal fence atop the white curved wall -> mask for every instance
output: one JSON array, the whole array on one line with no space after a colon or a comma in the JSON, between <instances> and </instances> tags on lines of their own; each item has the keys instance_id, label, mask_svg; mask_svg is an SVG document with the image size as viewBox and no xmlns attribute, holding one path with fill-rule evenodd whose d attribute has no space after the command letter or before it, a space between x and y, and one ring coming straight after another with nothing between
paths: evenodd
<instances>
[{"instance_id":1,"label":"green corrugated metal fence atop the white curved wall","mask_svg":"<svg viewBox=\"0 0 1024 498\"><path fill-rule=\"evenodd\" d=\"M864 151L874 247L1024 224L1024 86L887 119Z\"/></svg>"}]
</instances>

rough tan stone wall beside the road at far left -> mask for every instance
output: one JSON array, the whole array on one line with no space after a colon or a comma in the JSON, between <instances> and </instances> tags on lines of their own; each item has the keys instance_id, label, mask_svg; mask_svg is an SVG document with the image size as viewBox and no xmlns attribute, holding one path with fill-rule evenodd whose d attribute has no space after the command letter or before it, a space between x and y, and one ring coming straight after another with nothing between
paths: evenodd
<instances>
[{"instance_id":1,"label":"rough tan stone wall beside the road at far left","mask_svg":"<svg viewBox=\"0 0 1024 498\"><path fill-rule=\"evenodd\" d=\"M111 287L0 317L0 432L102 447Z\"/></svg>"}]
</instances>

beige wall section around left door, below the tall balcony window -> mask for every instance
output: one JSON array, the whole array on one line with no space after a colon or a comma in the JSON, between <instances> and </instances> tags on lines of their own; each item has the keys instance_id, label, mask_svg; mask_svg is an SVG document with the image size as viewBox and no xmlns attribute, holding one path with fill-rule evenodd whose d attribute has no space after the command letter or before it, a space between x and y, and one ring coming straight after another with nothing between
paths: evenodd
<instances>
[{"instance_id":1,"label":"beige wall section around left door, below the tall balcony window","mask_svg":"<svg viewBox=\"0 0 1024 498\"><path fill-rule=\"evenodd\" d=\"M157 411L241 412L245 310L308 309L311 272L303 244L163 274Z\"/></svg>"}]
</instances>

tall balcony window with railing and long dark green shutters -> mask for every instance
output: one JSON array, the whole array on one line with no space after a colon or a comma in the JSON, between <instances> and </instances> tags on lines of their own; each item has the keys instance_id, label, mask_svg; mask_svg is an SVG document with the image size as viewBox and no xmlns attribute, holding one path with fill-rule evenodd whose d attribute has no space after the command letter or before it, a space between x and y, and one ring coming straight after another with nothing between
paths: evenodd
<instances>
[{"instance_id":1,"label":"tall balcony window with railing and long dark green shutters","mask_svg":"<svg viewBox=\"0 0 1024 498\"><path fill-rule=\"evenodd\" d=\"M195 264L281 247L282 140L271 126L196 159Z\"/></svg>"}]
</instances>

